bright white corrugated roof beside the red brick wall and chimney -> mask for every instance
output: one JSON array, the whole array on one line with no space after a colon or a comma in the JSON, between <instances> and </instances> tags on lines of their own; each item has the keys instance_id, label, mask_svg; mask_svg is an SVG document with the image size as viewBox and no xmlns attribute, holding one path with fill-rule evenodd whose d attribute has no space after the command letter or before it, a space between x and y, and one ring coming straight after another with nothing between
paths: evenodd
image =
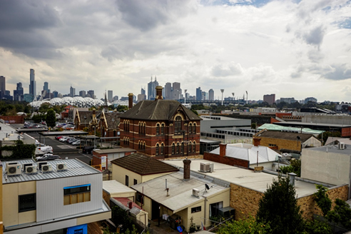
<instances>
[{"instance_id":1,"label":"bright white corrugated roof beside the red brick wall and chimney","mask_svg":"<svg viewBox=\"0 0 351 234\"><path fill-rule=\"evenodd\" d=\"M216 148L210 153L215 153L219 155L220 148ZM258 156L257 156L258 152ZM253 146L251 144L237 143L237 144L228 144L225 156L232 158L240 158L243 160L250 161L250 164L257 163L266 163L276 161L279 154L273 151L272 149L265 146Z\"/></svg>"}]
</instances>

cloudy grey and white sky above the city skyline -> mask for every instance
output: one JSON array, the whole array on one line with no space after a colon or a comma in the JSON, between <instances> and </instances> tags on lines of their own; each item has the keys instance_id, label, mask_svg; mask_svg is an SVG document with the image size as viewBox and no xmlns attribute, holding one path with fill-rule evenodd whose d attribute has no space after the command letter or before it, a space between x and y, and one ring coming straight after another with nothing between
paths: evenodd
<instances>
[{"instance_id":1,"label":"cloudy grey and white sky above the city skyline","mask_svg":"<svg viewBox=\"0 0 351 234\"><path fill-rule=\"evenodd\" d=\"M1 0L0 76L11 94L138 95L155 76L224 96L351 101L350 0Z\"/></svg>"}]
</instances>

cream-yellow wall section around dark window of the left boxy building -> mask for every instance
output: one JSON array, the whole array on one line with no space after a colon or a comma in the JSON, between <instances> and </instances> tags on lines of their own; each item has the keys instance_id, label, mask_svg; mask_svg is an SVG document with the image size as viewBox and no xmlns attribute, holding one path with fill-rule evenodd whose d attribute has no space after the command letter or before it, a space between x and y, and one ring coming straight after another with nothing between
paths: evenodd
<instances>
[{"instance_id":1,"label":"cream-yellow wall section around dark window of the left boxy building","mask_svg":"<svg viewBox=\"0 0 351 234\"><path fill-rule=\"evenodd\" d=\"M19 195L36 193L35 181L5 184L2 205L6 210L4 226L19 225L36 221L36 210L19 213Z\"/></svg>"}]
</instances>

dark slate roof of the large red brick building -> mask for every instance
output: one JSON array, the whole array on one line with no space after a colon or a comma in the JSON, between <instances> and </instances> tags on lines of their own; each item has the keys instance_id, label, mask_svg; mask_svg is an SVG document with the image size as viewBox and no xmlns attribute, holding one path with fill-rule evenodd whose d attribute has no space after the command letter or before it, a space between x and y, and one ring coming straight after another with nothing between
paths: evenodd
<instances>
[{"instance_id":1,"label":"dark slate roof of the large red brick building","mask_svg":"<svg viewBox=\"0 0 351 234\"><path fill-rule=\"evenodd\" d=\"M156 101L140 101L125 113L121 114L120 118L133 118L142 120L171 120L174 114L181 109L188 120L200 121L201 118L193 111L185 108L182 104L175 100L158 99Z\"/></svg>"}]
</instances>

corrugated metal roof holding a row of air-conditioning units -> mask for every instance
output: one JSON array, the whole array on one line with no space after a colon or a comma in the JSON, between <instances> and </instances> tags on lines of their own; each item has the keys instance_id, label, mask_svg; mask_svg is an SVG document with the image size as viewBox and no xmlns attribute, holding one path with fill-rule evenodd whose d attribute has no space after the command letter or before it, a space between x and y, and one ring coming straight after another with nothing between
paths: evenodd
<instances>
[{"instance_id":1,"label":"corrugated metal roof holding a row of air-conditioning units","mask_svg":"<svg viewBox=\"0 0 351 234\"><path fill-rule=\"evenodd\" d=\"M48 164L51 164L53 171L51 173L43 173L38 171L36 174L26 174L22 172L20 175L9 175L6 174L6 163L19 163L21 164L21 168L23 170L24 163L33 163L33 165L37 165L38 162L33 159L26 160L18 160L18 161L6 161L4 162L4 166L2 168L2 183L19 183L33 180L49 180L55 178L65 178L65 177L73 177L79 175L91 175L96 173L101 173L101 171L88 166L86 163L79 161L78 159L65 159L65 160L55 160L55 161L47 161ZM67 170L66 171L56 171L56 165L58 163L66 163Z\"/></svg>"}]
</instances>

